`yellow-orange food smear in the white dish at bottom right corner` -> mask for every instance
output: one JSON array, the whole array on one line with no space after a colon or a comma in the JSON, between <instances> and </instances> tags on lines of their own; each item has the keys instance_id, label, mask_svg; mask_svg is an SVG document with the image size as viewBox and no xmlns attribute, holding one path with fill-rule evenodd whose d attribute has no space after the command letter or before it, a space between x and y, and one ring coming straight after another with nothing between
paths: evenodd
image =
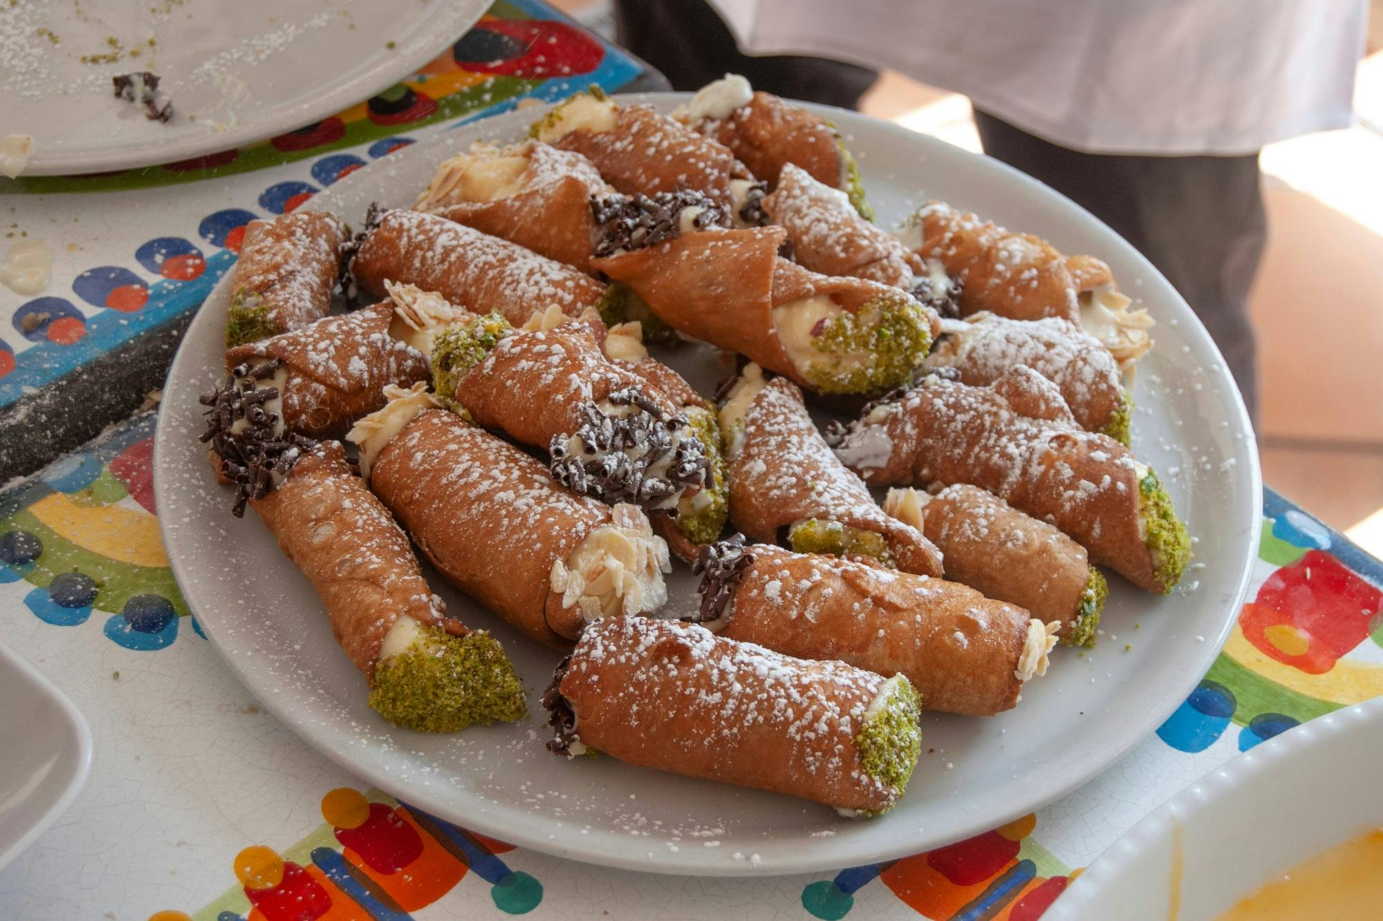
<instances>
[{"instance_id":1,"label":"yellow-orange food smear in the white dish at bottom right corner","mask_svg":"<svg viewBox=\"0 0 1383 921\"><path fill-rule=\"evenodd\" d=\"M1383 828L1299 863L1218 921L1375 921L1383 915Z\"/></svg>"}]
</instances>

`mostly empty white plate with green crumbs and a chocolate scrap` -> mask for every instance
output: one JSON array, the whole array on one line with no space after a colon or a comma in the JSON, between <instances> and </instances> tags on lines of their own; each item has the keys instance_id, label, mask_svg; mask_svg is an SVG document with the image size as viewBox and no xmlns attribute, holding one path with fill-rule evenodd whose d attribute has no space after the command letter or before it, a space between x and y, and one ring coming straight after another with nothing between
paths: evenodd
<instances>
[{"instance_id":1,"label":"mostly empty white plate with green crumbs and a chocolate scrap","mask_svg":"<svg viewBox=\"0 0 1383 921\"><path fill-rule=\"evenodd\" d=\"M119 170L231 149L311 124L389 89L459 39L488 6L488 0L0 4L0 133L33 136L25 169L30 176ZM115 98L111 77L131 71L159 75L159 89L173 101L174 116L166 124Z\"/></svg>"}]
</instances>

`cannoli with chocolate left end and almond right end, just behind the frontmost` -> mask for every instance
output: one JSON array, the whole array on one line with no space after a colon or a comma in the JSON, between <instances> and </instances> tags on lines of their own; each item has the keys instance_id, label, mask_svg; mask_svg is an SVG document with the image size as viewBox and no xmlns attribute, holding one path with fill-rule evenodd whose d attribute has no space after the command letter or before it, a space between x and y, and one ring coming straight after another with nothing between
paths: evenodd
<instances>
[{"instance_id":1,"label":"cannoli with chocolate left end and almond right end, just behind the frontmost","mask_svg":"<svg viewBox=\"0 0 1383 921\"><path fill-rule=\"evenodd\" d=\"M701 552L694 618L784 655L906 675L922 709L993 716L1047 672L1057 622L975 589L743 535Z\"/></svg>"}]
</instances>

